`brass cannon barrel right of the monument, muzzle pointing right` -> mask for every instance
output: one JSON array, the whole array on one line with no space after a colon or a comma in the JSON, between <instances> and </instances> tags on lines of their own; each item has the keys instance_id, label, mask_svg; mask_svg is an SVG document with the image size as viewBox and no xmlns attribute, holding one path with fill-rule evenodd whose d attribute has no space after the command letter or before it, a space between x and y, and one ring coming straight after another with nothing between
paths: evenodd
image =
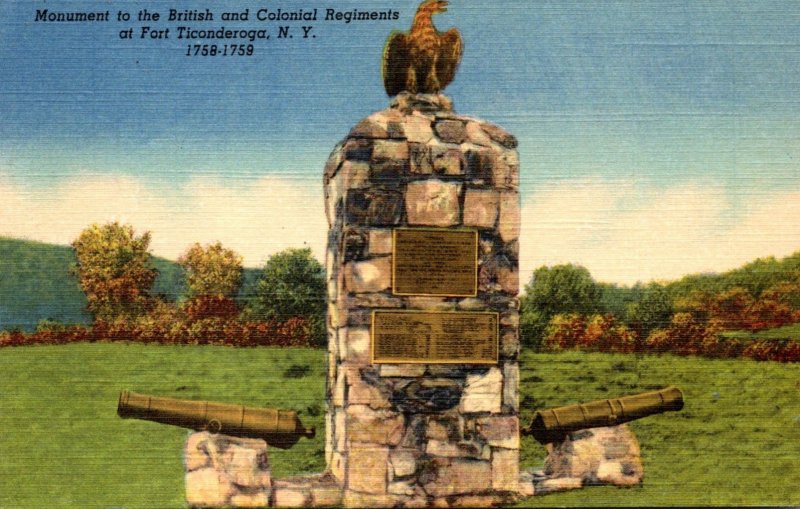
<instances>
[{"instance_id":1,"label":"brass cannon barrel right of the monument, muzzle pointing right","mask_svg":"<svg viewBox=\"0 0 800 509\"><path fill-rule=\"evenodd\" d=\"M547 444L579 429L615 426L681 408L683 394L677 387L670 386L632 396L539 410L523 434L532 435L540 443Z\"/></svg>"}]
</instances>

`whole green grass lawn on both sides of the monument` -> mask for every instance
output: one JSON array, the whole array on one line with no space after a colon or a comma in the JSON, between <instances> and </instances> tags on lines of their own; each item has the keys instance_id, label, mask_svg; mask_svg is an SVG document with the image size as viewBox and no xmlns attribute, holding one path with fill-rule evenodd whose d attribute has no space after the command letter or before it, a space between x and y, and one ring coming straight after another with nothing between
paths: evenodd
<instances>
[{"instance_id":1,"label":"whole green grass lawn on both sides of the monument","mask_svg":"<svg viewBox=\"0 0 800 509\"><path fill-rule=\"evenodd\" d=\"M271 449L273 474L319 472L325 366L323 351L304 349L1 349L0 507L184 507L187 431L119 419L122 389L298 410L317 437ZM642 446L642 487L587 488L520 506L800 504L800 365L526 353L523 424L536 408L667 384L684 391L684 410L631 424ZM526 438L523 466L543 458L544 447Z\"/></svg>"}]
</instances>

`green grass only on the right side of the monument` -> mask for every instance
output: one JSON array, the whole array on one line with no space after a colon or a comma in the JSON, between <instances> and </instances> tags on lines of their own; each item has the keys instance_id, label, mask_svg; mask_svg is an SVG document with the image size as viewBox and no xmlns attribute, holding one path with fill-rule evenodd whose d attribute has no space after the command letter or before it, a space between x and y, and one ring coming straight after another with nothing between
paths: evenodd
<instances>
[{"instance_id":1,"label":"green grass only on the right side of the monument","mask_svg":"<svg viewBox=\"0 0 800 509\"><path fill-rule=\"evenodd\" d=\"M798 505L800 365L747 360L602 354L523 355L523 424L537 406L605 399L676 385L681 412L630 423L639 438L641 487L587 488L520 506ZM523 441L523 466L545 452Z\"/></svg>"}]
</instances>

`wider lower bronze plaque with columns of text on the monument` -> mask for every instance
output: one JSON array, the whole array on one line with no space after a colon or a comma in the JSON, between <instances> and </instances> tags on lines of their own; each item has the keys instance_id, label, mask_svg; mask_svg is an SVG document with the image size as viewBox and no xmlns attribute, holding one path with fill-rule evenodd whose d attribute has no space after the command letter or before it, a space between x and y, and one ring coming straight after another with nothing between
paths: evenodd
<instances>
[{"instance_id":1,"label":"wider lower bronze plaque with columns of text on the monument","mask_svg":"<svg viewBox=\"0 0 800 509\"><path fill-rule=\"evenodd\" d=\"M498 314L373 311L372 362L497 364Z\"/></svg>"}]
</instances>

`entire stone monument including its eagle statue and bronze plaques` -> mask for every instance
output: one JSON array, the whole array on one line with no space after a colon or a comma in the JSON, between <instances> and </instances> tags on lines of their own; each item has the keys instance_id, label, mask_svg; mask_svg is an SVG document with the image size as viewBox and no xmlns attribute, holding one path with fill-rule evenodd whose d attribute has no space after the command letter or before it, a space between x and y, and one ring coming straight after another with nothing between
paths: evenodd
<instances>
[{"instance_id":1,"label":"entire stone monument including its eagle statue and bronze plaques","mask_svg":"<svg viewBox=\"0 0 800 509\"><path fill-rule=\"evenodd\" d=\"M461 47L430 23L446 5L423 2L390 37L397 96L325 166L325 450L345 506L489 505L518 490L517 141L440 93ZM440 40L415 47L420 35Z\"/></svg>"}]
</instances>

